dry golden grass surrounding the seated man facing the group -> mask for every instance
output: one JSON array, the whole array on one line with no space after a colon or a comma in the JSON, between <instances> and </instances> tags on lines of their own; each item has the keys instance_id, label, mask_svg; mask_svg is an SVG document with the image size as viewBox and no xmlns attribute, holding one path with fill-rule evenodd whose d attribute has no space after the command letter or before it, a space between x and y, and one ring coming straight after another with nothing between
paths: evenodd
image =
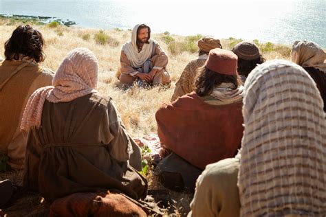
<instances>
[{"instance_id":1,"label":"dry golden grass surrounding the seated man facing the group","mask_svg":"<svg viewBox=\"0 0 326 217\"><path fill-rule=\"evenodd\" d=\"M4 22L5 21L0 20L0 45L5 43L16 27L12 25L3 25L5 24ZM160 45L162 45L169 54L168 70L171 72L173 84L169 89L155 87L146 90L133 87L128 91L123 91L119 89L119 82L114 75L116 69L118 69L120 65L120 47L124 42L129 40L131 32L128 30L85 30L65 26L49 27L48 25L39 26L39 30L43 33L46 42L45 54L47 58L42 65L53 71L56 71L67 52L76 47L87 47L94 52L100 65L98 91L113 98L127 130L134 136L156 131L155 111L163 102L169 102L175 87L174 84L180 77L182 70L189 60L197 56L196 53L190 52L182 52L182 54L178 55L171 54L168 49L169 45L164 43L164 39L162 39L166 35L154 34L153 38L157 39ZM102 36L102 39L96 37L99 32L101 32L100 36ZM171 37L174 38L175 43L181 45L183 43L188 43L187 37ZM98 40L100 40L101 43L97 43L96 41ZM110 43L112 41L113 45ZM221 43L225 49L230 49L232 40L224 39L221 40ZM3 54L3 52L3 46L0 46L0 54ZM288 58L282 56L281 53L275 50L270 50L265 53L264 56L267 59Z\"/></svg>"}]
</instances>

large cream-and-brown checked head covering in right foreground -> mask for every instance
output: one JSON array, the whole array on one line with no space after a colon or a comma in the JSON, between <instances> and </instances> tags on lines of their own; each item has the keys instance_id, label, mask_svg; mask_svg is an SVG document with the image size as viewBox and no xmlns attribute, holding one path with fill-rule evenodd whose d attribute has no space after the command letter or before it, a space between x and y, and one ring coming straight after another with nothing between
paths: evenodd
<instances>
[{"instance_id":1,"label":"large cream-and-brown checked head covering in right foreground","mask_svg":"<svg viewBox=\"0 0 326 217\"><path fill-rule=\"evenodd\" d=\"M256 67L243 119L241 216L325 216L325 113L308 73L286 60Z\"/></svg>"}]
</instances>

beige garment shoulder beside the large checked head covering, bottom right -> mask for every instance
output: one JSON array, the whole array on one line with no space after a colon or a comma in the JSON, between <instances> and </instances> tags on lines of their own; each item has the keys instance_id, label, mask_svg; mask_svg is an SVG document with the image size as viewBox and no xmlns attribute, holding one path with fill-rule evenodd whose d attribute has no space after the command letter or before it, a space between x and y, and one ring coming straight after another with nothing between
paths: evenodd
<instances>
[{"instance_id":1,"label":"beige garment shoulder beside the large checked head covering, bottom right","mask_svg":"<svg viewBox=\"0 0 326 217\"><path fill-rule=\"evenodd\" d=\"M237 176L239 159L229 158L212 163L197 179L197 187L188 217L240 215Z\"/></svg>"}]
</instances>

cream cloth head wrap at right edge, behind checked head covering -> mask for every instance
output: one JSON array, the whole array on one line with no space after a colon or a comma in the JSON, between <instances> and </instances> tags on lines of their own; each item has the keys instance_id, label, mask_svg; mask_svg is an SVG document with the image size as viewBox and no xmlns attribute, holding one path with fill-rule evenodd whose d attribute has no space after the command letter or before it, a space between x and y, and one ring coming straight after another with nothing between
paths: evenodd
<instances>
[{"instance_id":1,"label":"cream cloth head wrap at right edge, behind checked head covering","mask_svg":"<svg viewBox=\"0 0 326 217\"><path fill-rule=\"evenodd\" d=\"M326 54L312 41L295 41L292 45L291 60L301 67L314 67L326 73Z\"/></svg>"}]
</instances>

